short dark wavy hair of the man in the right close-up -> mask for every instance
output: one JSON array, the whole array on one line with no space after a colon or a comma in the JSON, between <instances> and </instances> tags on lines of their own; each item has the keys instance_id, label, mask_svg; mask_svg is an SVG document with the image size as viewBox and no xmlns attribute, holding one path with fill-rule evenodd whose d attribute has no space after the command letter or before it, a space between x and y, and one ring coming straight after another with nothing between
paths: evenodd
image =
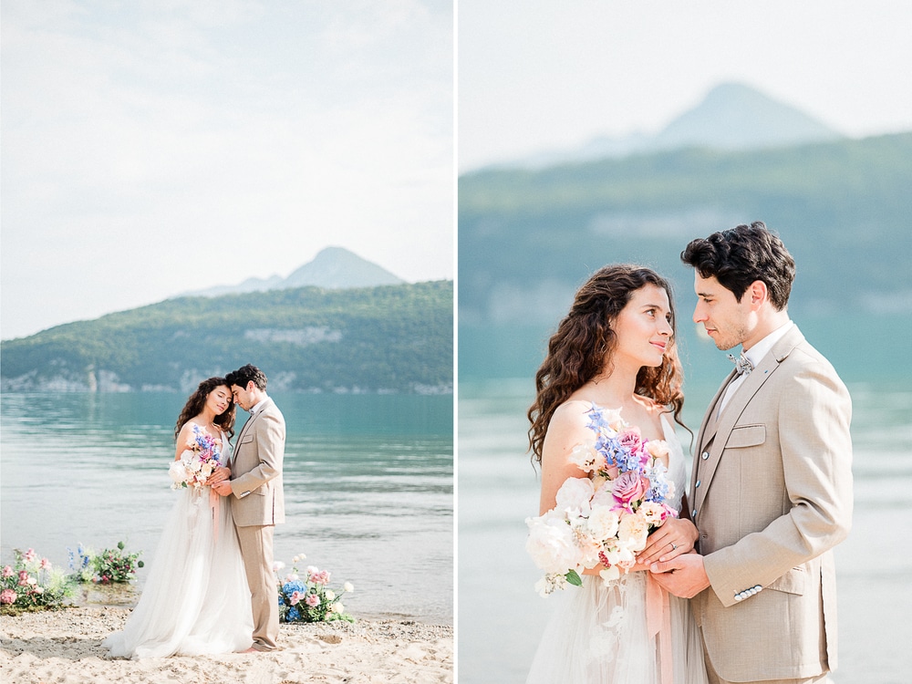
<instances>
[{"instance_id":1,"label":"short dark wavy hair of the man in the right close-up","mask_svg":"<svg viewBox=\"0 0 912 684\"><path fill-rule=\"evenodd\" d=\"M789 303L795 261L762 221L693 240L681 252L681 261L696 268L702 278L715 276L739 302L751 283L760 280L779 311Z\"/></svg>"}]
</instances>

